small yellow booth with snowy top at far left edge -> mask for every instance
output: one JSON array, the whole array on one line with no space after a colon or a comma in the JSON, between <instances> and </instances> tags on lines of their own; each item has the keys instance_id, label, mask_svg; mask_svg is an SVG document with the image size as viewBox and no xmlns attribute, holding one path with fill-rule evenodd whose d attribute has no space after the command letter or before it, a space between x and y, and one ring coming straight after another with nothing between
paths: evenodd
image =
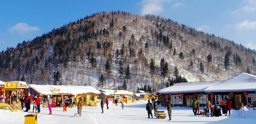
<instances>
[{"instance_id":1,"label":"small yellow booth with snowy top at far left edge","mask_svg":"<svg viewBox=\"0 0 256 124\"><path fill-rule=\"evenodd\" d=\"M10 82L1 82L1 92L4 93L6 96L5 103L11 104L11 97L12 95L15 95L17 98L15 99L15 102L24 94L24 90L26 89L26 82L23 81L10 81Z\"/></svg>"}]
</instances>

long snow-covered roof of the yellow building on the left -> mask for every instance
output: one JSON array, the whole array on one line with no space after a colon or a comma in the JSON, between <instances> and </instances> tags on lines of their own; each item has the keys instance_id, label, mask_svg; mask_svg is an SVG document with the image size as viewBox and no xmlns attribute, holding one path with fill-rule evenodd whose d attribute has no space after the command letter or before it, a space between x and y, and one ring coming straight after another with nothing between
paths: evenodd
<instances>
[{"instance_id":1,"label":"long snow-covered roof of the yellow building on the left","mask_svg":"<svg viewBox=\"0 0 256 124\"><path fill-rule=\"evenodd\" d=\"M99 90L91 87L91 86L64 86L64 85L36 85L29 84L29 87L34 89L36 92L50 95L50 94L58 94L58 93L69 93L69 94L85 94L85 93L96 93L99 94ZM60 91L52 92L52 89L60 89Z\"/></svg>"}]
</instances>

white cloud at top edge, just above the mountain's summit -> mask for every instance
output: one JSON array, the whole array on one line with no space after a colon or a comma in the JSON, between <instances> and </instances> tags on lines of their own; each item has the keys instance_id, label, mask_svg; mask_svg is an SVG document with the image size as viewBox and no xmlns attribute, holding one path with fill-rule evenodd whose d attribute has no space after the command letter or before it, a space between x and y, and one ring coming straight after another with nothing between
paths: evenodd
<instances>
[{"instance_id":1,"label":"white cloud at top edge, just above the mountain's summit","mask_svg":"<svg viewBox=\"0 0 256 124\"><path fill-rule=\"evenodd\" d=\"M142 14L159 14L163 12L163 4L170 0L143 0L142 1Z\"/></svg>"}]
</instances>

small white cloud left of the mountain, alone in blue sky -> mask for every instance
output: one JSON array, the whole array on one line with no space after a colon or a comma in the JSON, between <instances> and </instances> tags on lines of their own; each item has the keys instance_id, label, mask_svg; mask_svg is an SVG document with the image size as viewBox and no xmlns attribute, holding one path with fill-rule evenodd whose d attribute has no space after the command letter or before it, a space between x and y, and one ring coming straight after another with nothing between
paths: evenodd
<instances>
[{"instance_id":1,"label":"small white cloud left of the mountain, alone in blue sky","mask_svg":"<svg viewBox=\"0 0 256 124\"><path fill-rule=\"evenodd\" d=\"M27 23L17 23L15 26L12 26L10 32L19 32L20 34L30 32L30 31L39 31L40 29L37 26L29 26Z\"/></svg>"}]
</instances>

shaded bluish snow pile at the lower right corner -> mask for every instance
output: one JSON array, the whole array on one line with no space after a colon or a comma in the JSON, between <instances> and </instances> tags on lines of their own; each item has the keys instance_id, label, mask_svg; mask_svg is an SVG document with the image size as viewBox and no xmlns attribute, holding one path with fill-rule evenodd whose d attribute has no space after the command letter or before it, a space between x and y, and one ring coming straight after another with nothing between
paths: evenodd
<instances>
[{"instance_id":1,"label":"shaded bluish snow pile at the lower right corner","mask_svg":"<svg viewBox=\"0 0 256 124\"><path fill-rule=\"evenodd\" d=\"M247 107L241 107L238 111L233 111L232 115L235 118L256 118L256 110L248 110Z\"/></svg>"}]
</instances>

